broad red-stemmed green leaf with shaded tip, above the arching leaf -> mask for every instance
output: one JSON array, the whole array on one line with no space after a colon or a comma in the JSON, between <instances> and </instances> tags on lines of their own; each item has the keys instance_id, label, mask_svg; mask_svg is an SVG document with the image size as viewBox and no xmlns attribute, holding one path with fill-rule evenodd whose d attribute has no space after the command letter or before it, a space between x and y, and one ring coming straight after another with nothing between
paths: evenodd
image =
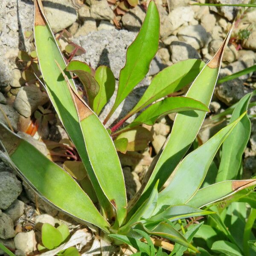
<instances>
[{"instance_id":1,"label":"broad red-stemmed green leaf with shaded tip, above the arching leaf","mask_svg":"<svg viewBox=\"0 0 256 256\"><path fill-rule=\"evenodd\" d=\"M154 76L151 84L128 116L132 116L156 100L182 89L196 78L204 64L204 61L188 59L160 71Z\"/></svg>"}]
</instances>

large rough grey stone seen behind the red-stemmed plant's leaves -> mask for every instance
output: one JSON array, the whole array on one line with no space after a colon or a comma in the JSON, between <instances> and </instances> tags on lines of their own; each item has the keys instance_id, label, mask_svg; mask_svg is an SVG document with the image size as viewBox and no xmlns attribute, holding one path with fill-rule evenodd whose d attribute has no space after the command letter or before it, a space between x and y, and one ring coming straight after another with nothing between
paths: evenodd
<instances>
[{"instance_id":1,"label":"large rough grey stone seen behind the red-stemmed plant's leaves","mask_svg":"<svg viewBox=\"0 0 256 256\"><path fill-rule=\"evenodd\" d=\"M111 68L116 79L119 78L119 73L126 61L126 51L128 46L134 41L136 33L126 30L101 30L99 32L90 33L87 36L81 36L75 42L83 47L86 52L77 56L76 59L90 63L91 67L96 69L100 65L106 65ZM158 69L157 69L158 67ZM163 64L160 58L155 58L152 61L150 74L163 69ZM140 97L145 92L149 84L148 76L141 81L133 92L122 102L119 108L115 111L107 125L111 124L117 118L122 118L134 105L137 104ZM117 84L116 84L117 85ZM105 106L100 114L100 119L104 119L113 106L116 97L116 92L112 96L110 102ZM130 120L131 121L131 120Z\"/></svg>"}]
</instances>

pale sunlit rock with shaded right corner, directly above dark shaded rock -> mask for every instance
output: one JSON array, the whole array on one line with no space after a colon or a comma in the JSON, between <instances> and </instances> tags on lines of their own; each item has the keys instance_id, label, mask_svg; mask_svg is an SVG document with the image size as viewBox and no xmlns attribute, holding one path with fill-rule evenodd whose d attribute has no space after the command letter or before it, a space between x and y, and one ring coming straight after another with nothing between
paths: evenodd
<instances>
[{"instance_id":1,"label":"pale sunlit rock with shaded right corner, directly above dark shaded rock","mask_svg":"<svg viewBox=\"0 0 256 256\"><path fill-rule=\"evenodd\" d=\"M201 25L186 26L177 33L180 41L190 44L195 49L201 49L207 43L209 34Z\"/></svg>"}]
</instances>

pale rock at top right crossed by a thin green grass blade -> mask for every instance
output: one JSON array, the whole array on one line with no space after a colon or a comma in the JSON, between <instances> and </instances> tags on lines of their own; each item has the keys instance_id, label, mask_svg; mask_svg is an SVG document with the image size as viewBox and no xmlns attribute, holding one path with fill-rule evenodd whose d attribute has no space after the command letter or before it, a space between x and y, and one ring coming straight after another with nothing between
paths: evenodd
<instances>
[{"instance_id":1,"label":"pale rock at top right crossed by a thin green grass blade","mask_svg":"<svg viewBox=\"0 0 256 256\"><path fill-rule=\"evenodd\" d=\"M227 3L227 4L239 4L243 3L243 0L210 0L210 3ZM237 7L233 6L210 6L210 10L218 13L221 16L226 17L228 20L233 20L236 17Z\"/></svg>"}]
</instances>

